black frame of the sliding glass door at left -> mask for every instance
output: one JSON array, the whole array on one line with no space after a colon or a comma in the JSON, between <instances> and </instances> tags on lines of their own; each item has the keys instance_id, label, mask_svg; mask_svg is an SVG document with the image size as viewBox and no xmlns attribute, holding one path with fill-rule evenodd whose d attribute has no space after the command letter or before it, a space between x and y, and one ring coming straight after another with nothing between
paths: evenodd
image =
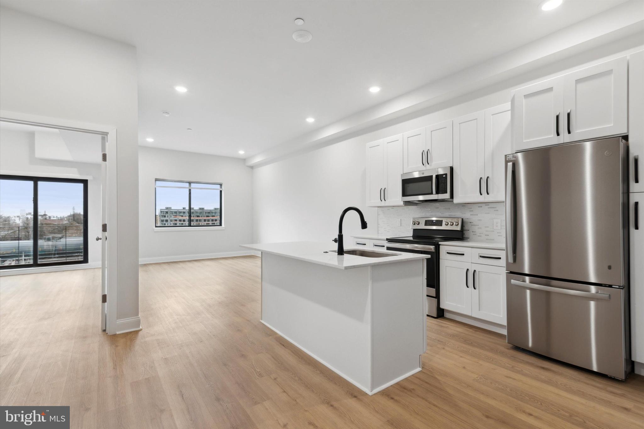
<instances>
[{"instance_id":1,"label":"black frame of the sliding glass door at left","mask_svg":"<svg viewBox=\"0 0 644 429\"><path fill-rule=\"evenodd\" d=\"M88 239L88 180L87 179L66 179L66 178L48 178L41 176L14 176L12 174L0 174L0 179L4 180L22 180L33 182L33 233L32 233L32 263L20 265L2 265L0 269L16 268L33 268L33 267L52 267L61 265L87 264L89 260L89 239ZM39 234L39 217L38 217L38 183L39 182L61 182L61 183L81 183L83 198L83 259L66 260L61 262L39 262L38 234Z\"/></svg>"}]
</instances>

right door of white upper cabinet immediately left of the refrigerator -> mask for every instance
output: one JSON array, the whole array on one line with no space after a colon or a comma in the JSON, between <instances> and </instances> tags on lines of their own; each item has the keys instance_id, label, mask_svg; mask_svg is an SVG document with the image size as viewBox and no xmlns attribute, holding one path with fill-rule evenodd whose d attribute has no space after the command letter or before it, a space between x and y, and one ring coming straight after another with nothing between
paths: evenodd
<instances>
[{"instance_id":1,"label":"right door of white upper cabinet immediately left of the refrigerator","mask_svg":"<svg viewBox=\"0 0 644 429\"><path fill-rule=\"evenodd\" d=\"M506 154L511 149L510 104L485 111L485 201L504 201Z\"/></svg>"}]
</instances>

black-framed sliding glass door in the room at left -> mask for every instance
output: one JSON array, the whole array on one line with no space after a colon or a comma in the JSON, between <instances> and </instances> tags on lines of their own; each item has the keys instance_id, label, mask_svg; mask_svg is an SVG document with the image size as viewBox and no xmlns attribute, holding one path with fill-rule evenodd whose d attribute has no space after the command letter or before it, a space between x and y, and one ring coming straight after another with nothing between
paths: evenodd
<instances>
[{"instance_id":1,"label":"black-framed sliding glass door in the room at left","mask_svg":"<svg viewBox=\"0 0 644 429\"><path fill-rule=\"evenodd\" d=\"M88 262L87 185L0 175L0 269Z\"/></svg>"}]
</instances>

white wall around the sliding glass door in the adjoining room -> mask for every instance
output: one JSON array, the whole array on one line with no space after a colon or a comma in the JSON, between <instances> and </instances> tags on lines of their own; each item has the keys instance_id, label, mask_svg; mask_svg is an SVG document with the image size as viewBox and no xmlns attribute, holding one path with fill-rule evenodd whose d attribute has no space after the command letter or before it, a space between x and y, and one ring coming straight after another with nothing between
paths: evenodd
<instances>
[{"instance_id":1,"label":"white wall around the sliding glass door in the adjoining room","mask_svg":"<svg viewBox=\"0 0 644 429\"><path fill-rule=\"evenodd\" d=\"M21 172L25 175L50 174L52 177L57 174L91 176L88 179L88 262L100 266L100 241L94 240L100 235L100 165L35 158L34 137L33 132L0 129L0 174ZM95 156L100 156L100 151Z\"/></svg>"}]
</instances>

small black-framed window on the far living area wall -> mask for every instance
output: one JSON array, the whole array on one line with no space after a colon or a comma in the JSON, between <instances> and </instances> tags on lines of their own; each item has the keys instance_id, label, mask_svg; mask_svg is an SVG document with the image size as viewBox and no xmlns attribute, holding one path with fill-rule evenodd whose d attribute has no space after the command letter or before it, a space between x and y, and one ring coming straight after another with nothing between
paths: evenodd
<instances>
[{"instance_id":1,"label":"small black-framed window on the far living area wall","mask_svg":"<svg viewBox=\"0 0 644 429\"><path fill-rule=\"evenodd\" d=\"M223 226L223 185L155 180L155 227Z\"/></svg>"}]
</instances>

